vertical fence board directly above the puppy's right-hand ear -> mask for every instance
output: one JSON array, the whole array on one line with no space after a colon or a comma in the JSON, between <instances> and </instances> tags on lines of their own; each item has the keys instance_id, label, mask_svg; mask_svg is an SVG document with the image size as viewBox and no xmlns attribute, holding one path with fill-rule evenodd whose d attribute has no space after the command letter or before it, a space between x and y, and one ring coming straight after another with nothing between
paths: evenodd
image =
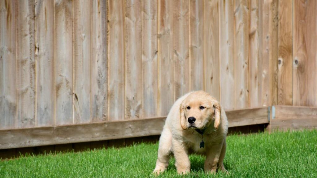
<instances>
[{"instance_id":1,"label":"vertical fence board directly above the puppy's right-hand ear","mask_svg":"<svg viewBox=\"0 0 317 178\"><path fill-rule=\"evenodd\" d=\"M204 1L204 90L220 97L219 0Z\"/></svg>"}]
</instances>

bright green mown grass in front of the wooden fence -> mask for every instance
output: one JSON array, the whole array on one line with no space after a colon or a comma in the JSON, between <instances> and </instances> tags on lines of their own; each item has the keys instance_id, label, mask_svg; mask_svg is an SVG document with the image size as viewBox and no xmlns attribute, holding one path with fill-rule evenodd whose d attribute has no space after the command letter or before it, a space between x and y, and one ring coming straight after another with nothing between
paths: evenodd
<instances>
[{"instance_id":1,"label":"bright green mown grass in front of the wooden fence","mask_svg":"<svg viewBox=\"0 0 317 178\"><path fill-rule=\"evenodd\" d=\"M172 159L159 177L317 177L317 130L227 137L228 174L207 175L204 157L192 155L191 173L177 175ZM1 161L0 177L155 177L157 144L120 149L26 156Z\"/></svg>"}]
</instances>

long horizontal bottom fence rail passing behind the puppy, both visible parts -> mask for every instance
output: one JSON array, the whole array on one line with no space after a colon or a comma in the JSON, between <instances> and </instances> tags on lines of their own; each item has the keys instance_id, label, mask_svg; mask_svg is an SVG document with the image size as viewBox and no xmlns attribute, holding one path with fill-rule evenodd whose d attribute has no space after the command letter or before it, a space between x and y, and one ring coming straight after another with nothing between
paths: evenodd
<instances>
[{"instance_id":1,"label":"long horizontal bottom fence rail passing behind the puppy, both visible parts","mask_svg":"<svg viewBox=\"0 0 317 178\"><path fill-rule=\"evenodd\" d=\"M229 127L268 123L267 107L226 111L226 115ZM165 118L0 130L0 149L159 135Z\"/></svg>"}]
</instances>

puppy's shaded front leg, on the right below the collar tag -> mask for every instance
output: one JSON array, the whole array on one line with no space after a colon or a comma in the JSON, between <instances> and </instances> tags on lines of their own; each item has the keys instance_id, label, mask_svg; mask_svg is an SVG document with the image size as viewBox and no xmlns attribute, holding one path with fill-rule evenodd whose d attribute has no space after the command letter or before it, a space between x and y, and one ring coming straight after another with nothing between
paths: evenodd
<instances>
[{"instance_id":1,"label":"puppy's shaded front leg, on the right below the collar tag","mask_svg":"<svg viewBox=\"0 0 317 178\"><path fill-rule=\"evenodd\" d=\"M209 149L209 152L206 153L206 161L204 165L205 172L216 173L222 145L223 143L215 144L211 147L211 149Z\"/></svg>"}]
</instances>

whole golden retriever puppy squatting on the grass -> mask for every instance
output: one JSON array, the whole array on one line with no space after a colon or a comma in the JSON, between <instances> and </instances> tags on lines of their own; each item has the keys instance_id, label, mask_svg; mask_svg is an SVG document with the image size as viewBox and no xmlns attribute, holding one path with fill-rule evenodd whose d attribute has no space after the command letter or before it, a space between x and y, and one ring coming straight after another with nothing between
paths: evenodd
<instances>
[{"instance_id":1,"label":"whole golden retriever puppy squatting on the grass","mask_svg":"<svg viewBox=\"0 0 317 178\"><path fill-rule=\"evenodd\" d=\"M159 140L158 159L154 173L160 174L174 155L178 174L191 170L188 155L206 156L205 172L226 171L228 121L219 102L204 91L190 92L179 98L171 108Z\"/></svg>"}]
</instances>

